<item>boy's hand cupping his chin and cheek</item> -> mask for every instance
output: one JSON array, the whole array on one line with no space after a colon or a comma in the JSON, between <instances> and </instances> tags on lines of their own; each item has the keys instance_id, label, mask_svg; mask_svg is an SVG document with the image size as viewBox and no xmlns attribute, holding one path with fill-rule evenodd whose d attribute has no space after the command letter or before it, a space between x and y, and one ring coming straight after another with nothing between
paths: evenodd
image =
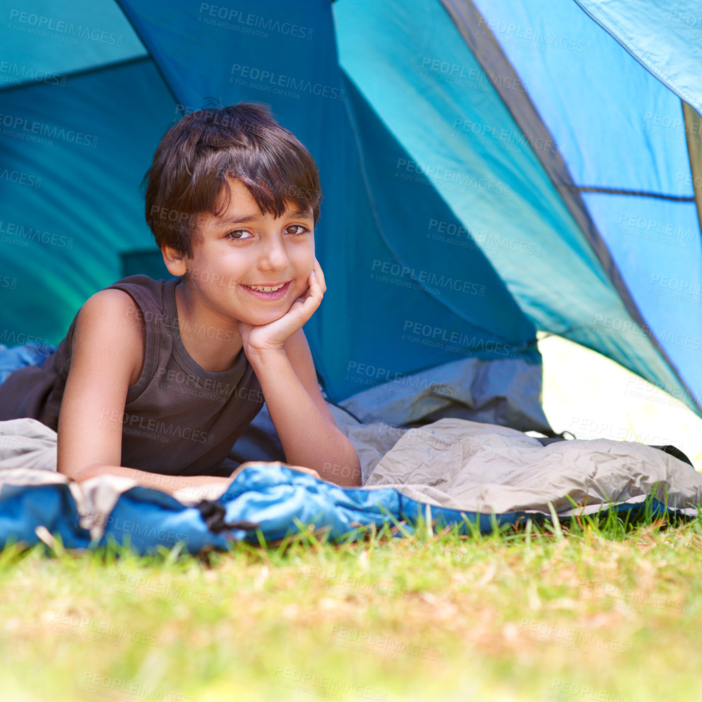
<instances>
[{"instance_id":1,"label":"boy's hand cupping his chin and cheek","mask_svg":"<svg viewBox=\"0 0 702 702\"><path fill-rule=\"evenodd\" d=\"M261 324L254 326L239 322L239 335L241 343L244 346L246 357L251 359L251 355L260 355L268 351L277 351L282 349L283 344L293 334L301 329L307 319L312 317L314 311L322 302L324 293L326 292L326 283L324 282L324 273L319 261L314 259L314 268L307 278L309 288L303 297L298 298L293 302L290 309L275 322L269 324Z\"/></svg>"}]
</instances>

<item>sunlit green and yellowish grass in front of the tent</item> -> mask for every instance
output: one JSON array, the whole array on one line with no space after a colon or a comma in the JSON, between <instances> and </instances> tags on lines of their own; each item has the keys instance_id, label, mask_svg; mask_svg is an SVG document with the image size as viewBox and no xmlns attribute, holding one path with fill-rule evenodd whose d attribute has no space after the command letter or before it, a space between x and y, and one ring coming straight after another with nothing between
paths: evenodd
<instances>
[{"instance_id":1,"label":"sunlit green and yellowish grass in front of the tent","mask_svg":"<svg viewBox=\"0 0 702 702\"><path fill-rule=\"evenodd\" d=\"M200 557L8 547L0 698L701 698L699 519L389 531Z\"/></svg>"}]
</instances>

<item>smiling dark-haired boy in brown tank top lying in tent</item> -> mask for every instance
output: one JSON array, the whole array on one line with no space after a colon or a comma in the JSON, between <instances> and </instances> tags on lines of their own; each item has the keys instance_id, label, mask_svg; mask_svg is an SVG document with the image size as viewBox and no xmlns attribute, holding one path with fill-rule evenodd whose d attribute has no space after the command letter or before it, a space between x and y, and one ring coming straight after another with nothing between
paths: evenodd
<instances>
[{"instance_id":1,"label":"smiling dark-haired boy in brown tank top lying in tent","mask_svg":"<svg viewBox=\"0 0 702 702\"><path fill-rule=\"evenodd\" d=\"M287 461L322 479L343 465L343 484L360 485L302 329L326 291L310 153L267 105L241 102L180 119L146 182L176 278L95 293L41 367L0 385L0 420L57 430L58 470L74 480L112 473L173 493L230 482L225 456L265 400Z\"/></svg>"}]
</instances>

